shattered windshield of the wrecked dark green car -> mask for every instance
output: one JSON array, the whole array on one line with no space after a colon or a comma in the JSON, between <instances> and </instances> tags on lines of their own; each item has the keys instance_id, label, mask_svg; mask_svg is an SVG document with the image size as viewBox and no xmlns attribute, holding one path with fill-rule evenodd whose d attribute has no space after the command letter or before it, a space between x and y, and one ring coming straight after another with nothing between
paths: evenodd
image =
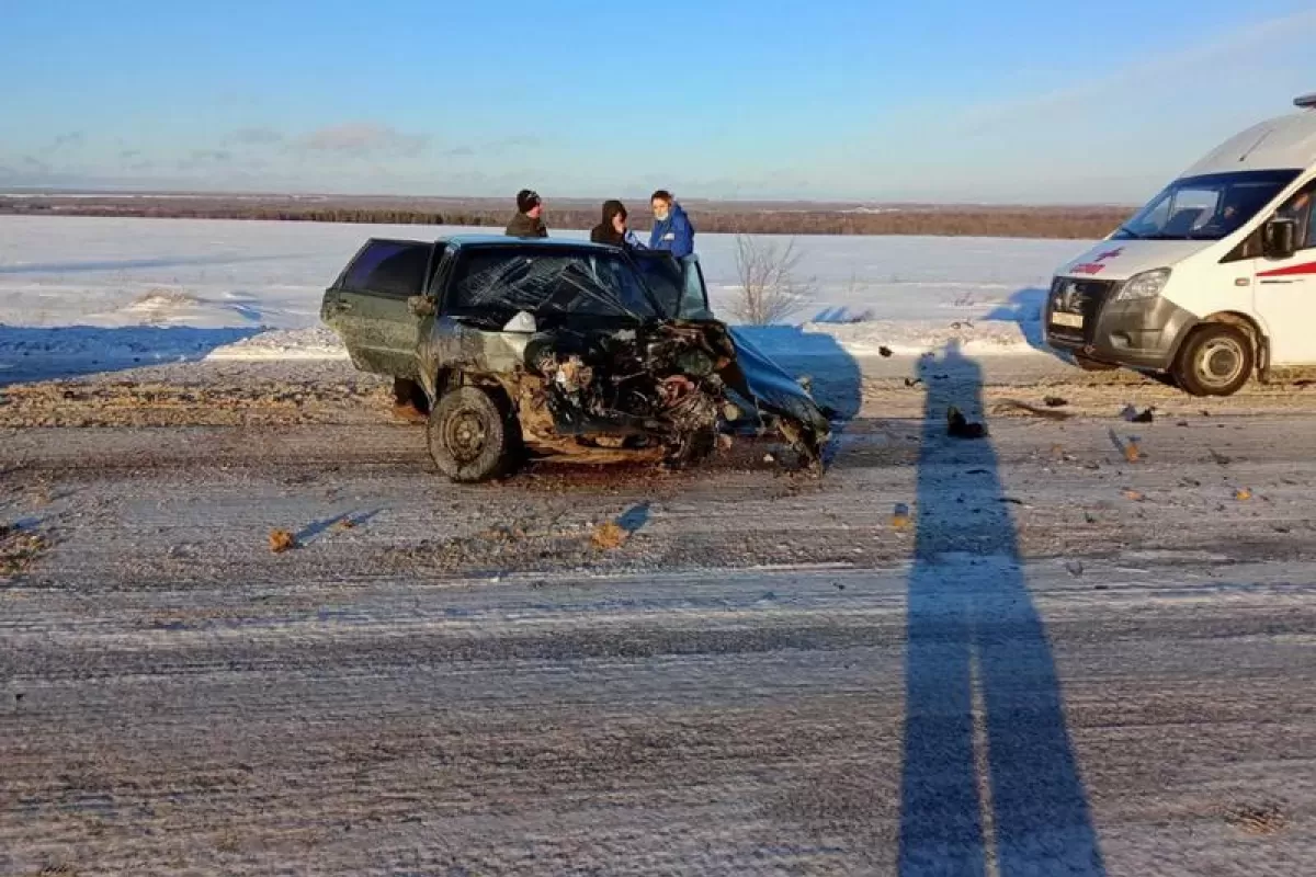
<instances>
[{"instance_id":1,"label":"shattered windshield of the wrecked dark green car","mask_svg":"<svg viewBox=\"0 0 1316 877\"><path fill-rule=\"evenodd\" d=\"M447 312L500 329L519 312L540 318L645 322L659 312L620 254L480 247L461 255Z\"/></svg>"}]
</instances>

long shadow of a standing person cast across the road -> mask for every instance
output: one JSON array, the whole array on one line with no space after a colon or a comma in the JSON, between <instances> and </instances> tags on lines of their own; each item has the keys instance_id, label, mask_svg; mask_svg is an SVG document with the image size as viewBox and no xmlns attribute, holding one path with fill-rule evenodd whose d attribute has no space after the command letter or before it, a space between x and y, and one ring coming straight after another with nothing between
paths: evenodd
<instances>
[{"instance_id":1,"label":"long shadow of a standing person cast across the road","mask_svg":"<svg viewBox=\"0 0 1316 877\"><path fill-rule=\"evenodd\" d=\"M946 434L949 405L980 412L982 372L955 346L921 371L900 874L1104 876L996 454Z\"/></svg>"}]
</instances>

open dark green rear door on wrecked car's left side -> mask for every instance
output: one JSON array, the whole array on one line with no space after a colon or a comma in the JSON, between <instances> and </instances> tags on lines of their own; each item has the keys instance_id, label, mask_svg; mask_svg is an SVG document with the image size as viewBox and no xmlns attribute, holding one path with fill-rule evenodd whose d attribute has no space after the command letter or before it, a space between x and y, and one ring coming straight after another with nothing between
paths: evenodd
<instances>
[{"instance_id":1,"label":"open dark green rear door on wrecked car's left side","mask_svg":"<svg viewBox=\"0 0 1316 877\"><path fill-rule=\"evenodd\" d=\"M371 241L326 297L325 320L343 338L357 367L416 379L416 348L433 313L417 313L442 245Z\"/></svg>"}]
</instances>

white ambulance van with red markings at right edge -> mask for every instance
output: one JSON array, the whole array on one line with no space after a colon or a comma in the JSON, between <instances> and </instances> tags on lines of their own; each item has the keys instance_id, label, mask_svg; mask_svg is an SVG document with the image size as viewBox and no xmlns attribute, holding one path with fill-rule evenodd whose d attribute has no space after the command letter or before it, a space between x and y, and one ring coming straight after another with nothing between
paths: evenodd
<instances>
[{"instance_id":1,"label":"white ambulance van with red markings at right edge","mask_svg":"<svg viewBox=\"0 0 1316 877\"><path fill-rule=\"evenodd\" d=\"M1316 95L1295 104L1063 266L1042 316L1048 343L1084 368L1169 373L1196 396L1316 364Z\"/></svg>"}]
</instances>

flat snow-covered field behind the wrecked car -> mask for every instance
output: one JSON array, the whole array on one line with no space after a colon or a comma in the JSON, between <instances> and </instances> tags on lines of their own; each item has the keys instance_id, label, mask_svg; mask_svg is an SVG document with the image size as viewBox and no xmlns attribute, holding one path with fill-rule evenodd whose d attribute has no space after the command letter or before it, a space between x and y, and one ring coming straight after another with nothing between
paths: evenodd
<instances>
[{"instance_id":1,"label":"flat snow-covered field behind the wrecked car","mask_svg":"<svg viewBox=\"0 0 1316 877\"><path fill-rule=\"evenodd\" d=\"M114 364L341 356L333 337L318 330L320 297L357 247L367 237L429 239L457 231L0 217L0 371L34 356ZM797 273L815 293L794 320L855 356L876 355L883 346L916 356L950 339L979 356L1036 354L1051 271L1084 246L801 237ZM737 288L734 238L700 235L699 251L715 309L726 313ZM797 333L775 341L791 338ZM774 334L763 341L771 347Z\"/></svg>"}]
</instances>

